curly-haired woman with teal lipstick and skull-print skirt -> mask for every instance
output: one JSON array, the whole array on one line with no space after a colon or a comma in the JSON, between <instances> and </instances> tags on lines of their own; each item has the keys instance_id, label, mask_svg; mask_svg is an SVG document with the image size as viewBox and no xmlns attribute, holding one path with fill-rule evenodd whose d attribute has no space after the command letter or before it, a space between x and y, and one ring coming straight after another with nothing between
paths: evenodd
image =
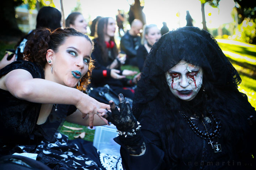
<instances>
[{"instance_id":1,"label":"curly-haired woman with teal lipstick and skull-print skirt","mask_svg":"<svg viewBox=\"0 0 256 170\"><path fill-rule=\"evenodd\" d=\"M105 169L91 142L59 134L65 120L106 125L86 95L93 69L93 42L73 28L36 29L25 46L25 60L0 70L0 156L23 153L51 169ZM108 158L110 159L110 158ZM118 159L116 159L118 161Z\"/></svg>"}]
</instances>

